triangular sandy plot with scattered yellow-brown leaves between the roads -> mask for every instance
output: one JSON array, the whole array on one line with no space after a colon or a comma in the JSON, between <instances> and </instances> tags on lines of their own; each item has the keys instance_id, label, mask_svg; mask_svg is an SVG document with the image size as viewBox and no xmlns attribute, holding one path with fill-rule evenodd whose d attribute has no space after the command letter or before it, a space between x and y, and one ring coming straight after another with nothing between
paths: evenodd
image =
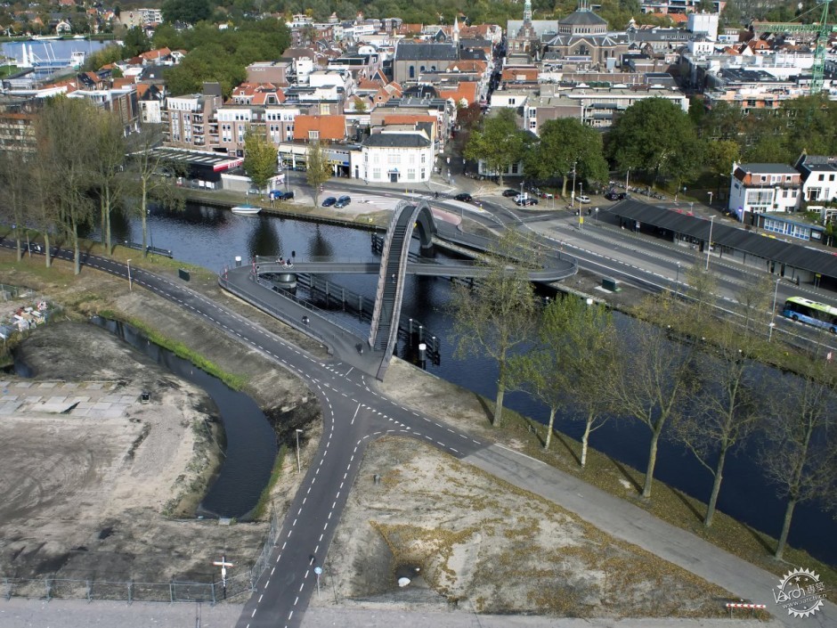
<instances>
[{"instance_id":1,"label":"triangular sandy plot with scattered yellow-brown leaves between the roads","mask_svg":"<svg viewBox=\"0 0 837 628\"><path fill-rule=\"evenodd\" d=\"M400 576L412 582L401 588ZM394 436L364 457L322 585L314 603L577 617L717 616L727 595L551 502Z\"/></svg>"}]
</instances>

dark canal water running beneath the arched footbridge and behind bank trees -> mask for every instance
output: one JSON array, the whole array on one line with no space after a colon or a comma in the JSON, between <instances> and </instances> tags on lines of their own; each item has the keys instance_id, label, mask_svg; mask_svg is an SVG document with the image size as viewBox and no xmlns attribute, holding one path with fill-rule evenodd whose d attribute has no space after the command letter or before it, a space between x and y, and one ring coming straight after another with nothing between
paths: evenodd
<instances>
[{"instance_id":1,"label":"dark canal water running beneath the arched footbridge and behind bank trees","mask_svg":"<svg viewBox=\"0 0 837 628\"><path fill-rule=\"evenodd\" d=\"M151 244L171 249L176 259L220 271L232 265L235 256L245 261L255 255L297 259L333 257L334 259L368 258L370 233L346 227L283 220L272 216L234 216L229 211L189 205L183 212L173 213L154 208L149 216ZM138 220L117 220L114 237L118 240L142 241ZM418 242L413 245L417 247ZM333 278L345 287L374 298L376 277L338 275ZM427 368L442 379L449 380L480 395L493 398L496 393L496 365L488 359L470 357L454 359L455 338L451 321L443 308L450 296L451 284L442 279L408 278L404 292L403 316L423 322L441 340L439 364ZM617 324L626 333L638 324L617 315ZM591 375L592 376L592 375ZM778 377L778 375L776 375ZM509 408L545 422L549 411L532 397L522 393L506 396ZM581 437L583 424L567 414L557 417L557 428L575 438ZM591 445L617 461L636 469L645 469L649 433L635 421L612 421L597 430ZM778 536L784 516L784 502L761 476L753 463L758 447L750 445L744 452L730 455L719 497L719 510L738 518L755 529ZM678 444L662 443L657 458L656 477L704 502L711 490L711 476ZM817 508L802 504L797 508L790 542L808 550L818 559L837 564L837 522Z\"/></svg>"}]
</instances>

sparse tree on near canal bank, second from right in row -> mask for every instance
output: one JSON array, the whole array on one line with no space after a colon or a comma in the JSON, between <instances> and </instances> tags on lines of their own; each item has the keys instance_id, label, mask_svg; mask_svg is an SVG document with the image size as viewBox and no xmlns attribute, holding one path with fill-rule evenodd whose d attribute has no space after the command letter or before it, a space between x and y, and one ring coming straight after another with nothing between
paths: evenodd
<instances>
[{"instance_id":1,"label":"sparse tree on near canal bank, second from right in row","mask_svg":"<svg viewBox=\"0 0 837 628\"><path fill-rule=\"evenodd\" d=\"M703 518L706 527L712 525L715 515L727 453L752 434L762 411L756 363L748 355L748 335L737 324L716 324L717 333L707 346L709 355L696 361L696 376L702 386L692 389L691 412L680 415L673 430L713 477Z\"/></svg>"}]
</instances>

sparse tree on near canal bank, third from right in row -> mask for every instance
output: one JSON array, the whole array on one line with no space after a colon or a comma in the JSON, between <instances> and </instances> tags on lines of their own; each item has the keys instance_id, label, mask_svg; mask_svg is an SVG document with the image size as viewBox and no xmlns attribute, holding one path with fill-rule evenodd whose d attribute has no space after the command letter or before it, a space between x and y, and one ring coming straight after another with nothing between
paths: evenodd
<instances>
[{"instance_id":1,"label":"sparse tree on near canal bank, third from right in row","mask_svg":"<svg viewBox=\"0 0 837 628\"><path fill-rule=\"evenodd\" d=\"M617 374L608 393L617 412L628 415L651 431L643 497L651 497L657 445L669 420L683 411L694 384L694 343L672 338L667 321L676 318L676 304L668 293L646 298L638 308L639 324L630 335L620 336Z\"/></svg>"}]
</instances>

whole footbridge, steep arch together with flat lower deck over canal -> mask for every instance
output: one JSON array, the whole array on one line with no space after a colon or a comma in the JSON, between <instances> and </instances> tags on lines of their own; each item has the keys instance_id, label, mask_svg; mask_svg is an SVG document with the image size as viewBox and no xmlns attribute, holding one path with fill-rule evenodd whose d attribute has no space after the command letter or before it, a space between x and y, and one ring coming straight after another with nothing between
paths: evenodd
<instances>
[{"instance_id":1,"label":"whole footbridge, steep arch together with flat lower deck over canal","mask_svg":"<svg viewBox=\"0 0 837 628\"><path fill-rule=\"evenodd\" d=\"M402 201L395 208L392 220L386 230L384 244L381 250L380 259L366 261L327 261L327 262L297 262L292 266L282 260L267 261L260 258L252 265L240 266L225 271L220 278L223 288L231 290L241 298L245 298L253 305L260 306L264 298L250 298L250 290L244 290L241 281L256 280L266 274L276 273L377 273L378 288L376 290L375 308L372 315L369 338L363 340L368 349L368 361L370 356L379 359L378 369L373 373L378 379L383 379L389 359L393 355L398 340L398 319L401 315L403 298L404 278L408 274L440 276L440 277L481 277L490 272L484 265L474 263L443 263L435 262L432 257L426 261L411 261L410 240L413 233L418 235L421 252L429 255L434 247L434 239L448 241L460 246L476 250L488 250L491 241L477 236L459 232L455 227L447 223L436 222L432 210L427 201L422 200L418 204ZM578 263L573 258L546 256L544 267L540 270L531 271L529 279L540 283L550 283L572 276L578 271ZM238 287L238 290L236 290ZM265 292L271 292L264 289ZM280 297L272 292L271 300ZM290 299L288 299L290 301ZM296 322L297 311L294 308L288 314L289 320ZM263 309L265 309L263 307ZM281 310L281 308L279 308ZM277 314L275 304L269 308L271 314ZM290 318L290 317L293 318ZM282 316L284 318L284 316ZM313 324L306 315L305 325ZM321 323L317 321L316 324ZM319 334L322 338L322 334ZM362 354L361 354L362 355Z\"/></svg>"}]
</instances>

